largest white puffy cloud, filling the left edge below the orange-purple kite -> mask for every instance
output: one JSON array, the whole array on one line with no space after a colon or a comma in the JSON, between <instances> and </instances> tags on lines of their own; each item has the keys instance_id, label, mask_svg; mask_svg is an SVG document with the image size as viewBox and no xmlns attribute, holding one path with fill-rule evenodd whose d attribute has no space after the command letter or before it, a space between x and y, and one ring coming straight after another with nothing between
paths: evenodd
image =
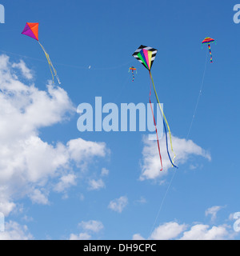
<instances>
[{"instance_id":1,"label":"largest white puffy cloud, filling the left edge below the orange-purple kite","mask_svg":"<svg viewBox=\"0 0 240 256\"><path fill-rule=\"evenodd\" d=\"M49 204L49 191L42 188L51 182L47 187L54 191L67 190L76 185L73 166L86 170L94 158L108 153L105 143L82 138L70 139L66 145L44 142L39 129L69 120L73 103L61 87L50 82L46 90L38 90L22 82L22 77L33 78L26 64L0 55L0 212L6 216L18 198Z\"/></svg>"}]
</instances>

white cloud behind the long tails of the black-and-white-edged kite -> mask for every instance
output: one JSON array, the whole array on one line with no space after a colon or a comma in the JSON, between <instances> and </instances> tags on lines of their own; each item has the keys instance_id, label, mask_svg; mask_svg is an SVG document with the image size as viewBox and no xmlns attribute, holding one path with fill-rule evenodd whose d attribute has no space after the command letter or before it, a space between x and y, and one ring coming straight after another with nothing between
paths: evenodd
<instances>
[{"instance_id":1,"label":"white cloud behind the long tails of the black-and-white-edged kite","mask_svg":"<svg viewBox=\"0 0 240 256\"><path fill-rule=\"evenodd\" d=\"M211 160L210 154L207 153L206 150L203 150L200 146L196 145L191 140L186 141L186 139L172 136L172 142L174 146L174 152L176 154L175 163L177 165L185 163L192 154L202 156L203 158L206 158L209 161ZM143 181L146 179L155 179L159 177L162 178L167 174L167 170L169 170L172 167L166 152L165 137L163 137L160 140L160 147L162 149L162 165L164 170L162 172L160 172L161 166L156 142L150 141L147 137L144 137L143 143L143 164L140 180Z\"/></svg>"}]
</instances>

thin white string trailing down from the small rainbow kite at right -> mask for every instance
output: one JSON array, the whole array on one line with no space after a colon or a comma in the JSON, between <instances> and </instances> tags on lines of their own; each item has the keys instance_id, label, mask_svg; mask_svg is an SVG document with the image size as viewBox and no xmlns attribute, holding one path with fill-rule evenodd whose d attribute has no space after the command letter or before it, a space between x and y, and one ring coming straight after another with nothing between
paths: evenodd
<instances>
[{"instance_id":1,"label":"thin white string trailing down from the small rainbow kite at right","mask_svg":"<svg viewBox=\"0 0 240 256\"><path fill-rule=\"evenodd\" d=\"M203 89L204 80L205 80L205 76L206 76L207 56L208 56L208 53L207 53L207 51L206 51L206 62L205 62L205 67L204 67L203 76L202 76L202 83L201 83L201 87L200 87L200 92L199 92L199 94L198 94L198 101L197 101L196 106L195 106L194 116L193 116L192 121L191 121L191 123L190 123L190 129L189 129L188 134L187 134L187 136L186 136L186 140L188 140L188 138L189 138L189 136L190 136L190 130L192 129L192 126L193 126L193 123L194 123L194 118L195 118L195 115L196 115L197 110L198 110L198 104L199 104L200 98L201 98L201 96L202 96L202 89ZM173 176L172 176L172 178L171 178L171 180L170 180L170 184L169 184L169 186L167 187L167 190L166 190L166 192L165 192L165 194L164 194L164 196L163 196L163 198L162 198L162 202L161 202L160 208L159 208L159 210L158 210L157 217L155 218L154 225L153 225L153 227L152 227L152 229L151 229L151 231L150 231L150 235L151 235L151 234L153 233L153 231L154 231L154 226L156 225L156 223L157 223L157 221L158 221L159 214L160 214L161 211L162 211L162 206L163 206L163 204L164 204L164 202L165 202L165 200L166 200L166 196L167 196L167 194L168 194L168 192L169 192L169 190L170 190L170 187L171 187L171 185L172 185L172 183L173 183L173 181L174 181L174 178L175 178L176 174L177 174L177 170L174 170L174 174L173 174ZM149 235L149 238L150 238L150 235Z\"/></svg>"}]
</instances>

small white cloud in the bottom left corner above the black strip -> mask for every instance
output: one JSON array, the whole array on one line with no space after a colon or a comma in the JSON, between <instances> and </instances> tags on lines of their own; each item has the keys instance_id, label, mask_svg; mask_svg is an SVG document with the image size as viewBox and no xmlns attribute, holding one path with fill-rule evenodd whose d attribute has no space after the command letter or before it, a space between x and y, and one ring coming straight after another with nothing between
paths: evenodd
<instances>
[{"instance_id":1,"label":"small white cloud in the bottom left corner above the black strip","mask_svg":"<svg viewBox=\"0 0 240 256\"><path fill-rule=\"evenodd\" d=\"M20 226L17 222L6 222L5 232L0 232L0 240L32 240L27 226Z\"/></svg>"}]
</instances>

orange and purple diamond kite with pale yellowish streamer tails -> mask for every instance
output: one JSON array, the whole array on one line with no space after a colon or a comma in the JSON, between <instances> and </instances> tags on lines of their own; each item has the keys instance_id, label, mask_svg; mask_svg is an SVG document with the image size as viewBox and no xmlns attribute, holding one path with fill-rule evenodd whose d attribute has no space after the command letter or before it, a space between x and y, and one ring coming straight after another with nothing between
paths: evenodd
<instances>
[{"instance_id":1,"label":"orange and purple diamond kite with pale yellowish streamer tails","mask_svg":"<svg viewBox=\"0 0 240 256\"><path fill-rule=\"evenodd\" d=\"M34 38L38 41L38 25L39 23L30 23L27 22L24 30L22 31L22 34L25 34L29 36L30 38ZM44 54L46 55L47 62L50 66L50 71L52 74L53 82L54 82L54 76L57 78L59 85L61 84L57 71L54 69L53 63L50 60L49 54L47 54L46 50L43 48L42 44L38 41L39 45L42 47L42 50L44 51ZM54 73L53 73L54 72Z\"/></svg>"}]
</instances>

